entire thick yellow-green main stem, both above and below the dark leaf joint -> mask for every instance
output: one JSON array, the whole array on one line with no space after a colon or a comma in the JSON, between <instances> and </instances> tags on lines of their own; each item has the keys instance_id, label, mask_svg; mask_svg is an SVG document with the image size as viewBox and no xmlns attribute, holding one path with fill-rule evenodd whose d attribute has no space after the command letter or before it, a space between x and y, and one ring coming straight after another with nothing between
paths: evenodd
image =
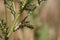
<instances>
[{"instance_id":1,"label":"entire thick yellow-green main stem, both above and below the dark leaf joint","mask_svg":"<svg viewBox=\"0 0 60 40\"><path fill-rule=\"evenodd\" d=\"M26 3L27 3L27 0L24 0L23 5L22 5L22 8L24 8L24 6L25 6ZM14 29L14 27L16 25L16 22L17 22L17 20L19 18L19 16L20 16L20 13L15 17L15 19L14 19L12 25L11 25L10 31L9 31L9 33L7 35L7 37L10 37L11 36L11 34L13 32L13 29Z\"/></svg>"}]
</instances>

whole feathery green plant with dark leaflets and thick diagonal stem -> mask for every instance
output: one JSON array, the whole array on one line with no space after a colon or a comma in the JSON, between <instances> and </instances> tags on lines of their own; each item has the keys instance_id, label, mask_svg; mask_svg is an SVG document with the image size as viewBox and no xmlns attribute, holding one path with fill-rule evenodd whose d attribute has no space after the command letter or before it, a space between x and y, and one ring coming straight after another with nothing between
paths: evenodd
<instances>
[{"instance_id":1,"label":"whole feathery green plant with dark leaflets and thick diagonal stem","mask_svg":"<svg viewBox=\"0 0 60 40\"><path fill-rule=\"evenodd\" d=\"M40 0L37 0L38 5L40 5ZM34 0L24 0L22 2L20 2L20 10L18 15L16 15L16 9L15 9L15 4L14 4L14 0L4 0L4 5L5 5L5 15L6 15L6 22L4 22L3 20L0 21L0 29L3 32L4 38L5 40L9 40L9 37L11 36L11 34L14 32L14 28L16 27L16 23L19 19L19 17L21 16L21 14L23 13L23 11L28 11L27 16L20 22L21 25L19 25L19 27L16 29L18 30L19 28L23 28L24 26L27 26L31 29L33 29L33 26L29 24L29 20L25 21L27 19L27 17L29 15L33 15L34 10L36 9L37 5L34 4ZM10 25L10 27L7 26L7 8L11 11L11 14L14 16L14 20L12 22L12 24ZM8 30L9 29L9 30ZM15 30L15 31L16 31ZM8 32L9 31L9 32Z\"/></svg>"}]
</instances>

